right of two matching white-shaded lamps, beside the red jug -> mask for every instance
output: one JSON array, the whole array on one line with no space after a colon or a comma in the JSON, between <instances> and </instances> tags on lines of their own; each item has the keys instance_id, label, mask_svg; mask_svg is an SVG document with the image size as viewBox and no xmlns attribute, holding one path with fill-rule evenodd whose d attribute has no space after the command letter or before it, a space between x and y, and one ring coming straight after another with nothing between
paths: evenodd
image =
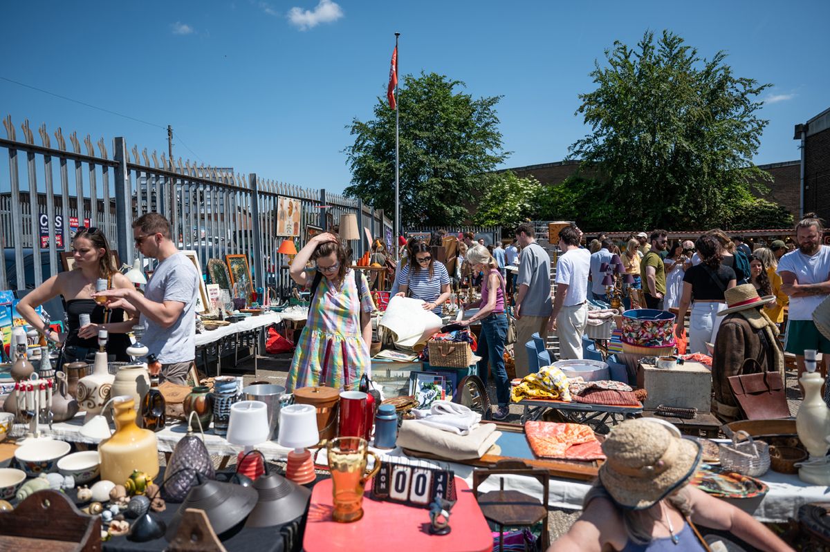
<instances>
[{"instance_id":1,"label":"right of two matching white-shaded lamps, beside the red jug","mask_svg":"<svg viewBox=\"0 0 830 552\"><path fill-rule=\"evenodd\" d=\"M283 447L293 448L288 453L286 477L300 485L315 480L314 461L308 447L320 441L317 429L317 409L310 404L291 404L280 410L280 436Z\"/></svg>"}]
</instances>

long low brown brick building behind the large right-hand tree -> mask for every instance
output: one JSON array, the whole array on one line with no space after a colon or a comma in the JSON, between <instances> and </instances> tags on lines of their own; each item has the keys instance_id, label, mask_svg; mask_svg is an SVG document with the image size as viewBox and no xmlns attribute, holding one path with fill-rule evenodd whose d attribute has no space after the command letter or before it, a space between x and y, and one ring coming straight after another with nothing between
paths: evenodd
<instances>
[{"instance_id":1,"label":"long low brown brick building behind the large right-hand tree","mask_svg":"<svg viewBox=\"0 0 830 552\"><path fill-rule=\"evenodd\" d=\"M830 109L827 112L830 114ZM827 132L826 142L830 143L830 132ZM825 171L830 169L830 154L827 152L830 148L825 147ZM551 163L542 163L540 165L528 165L527 167L514 167L510 170L515 173L517 177L525 178L533 176L540 183L545 186L557 186L564 182L564 179L576 172L579 167L579 161L557 161ZM763 197L766 200L774 201L784 206L793 217L798 217L800 208L800 167L801 162L785 161L779 163L769 163L768 165L759 165L760 169L769 172L773 177L772 182L761 182L763 186L768 188L765 193L754 192L756 196ZM588 175L590 176L590 175ZM827 196L826 201L828 209L830 209L830 181L828 181L828 191L825 192ZM828 219L830 220L830 219Z\"/></svg>"}]
</instances>

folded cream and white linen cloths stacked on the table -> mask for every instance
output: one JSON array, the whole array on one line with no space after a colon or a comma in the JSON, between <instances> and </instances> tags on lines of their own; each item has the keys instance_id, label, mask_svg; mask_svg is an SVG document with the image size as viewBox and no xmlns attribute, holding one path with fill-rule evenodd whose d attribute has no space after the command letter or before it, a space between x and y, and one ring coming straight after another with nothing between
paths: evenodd
<instances>
[{"instance_id":1,"label":"folded cream and white linen cloths stacked on the table","mask_svg":"<svg viewBox=\"0 0 830 552\"><path fill-rule=\"evenodd\" d=\"M479 424L468 435L457 435L418 420L405 419L398 431L398 446L447 460L470 460L484 456L500 436L496 424Z\"/></svg>"}]
</instances>

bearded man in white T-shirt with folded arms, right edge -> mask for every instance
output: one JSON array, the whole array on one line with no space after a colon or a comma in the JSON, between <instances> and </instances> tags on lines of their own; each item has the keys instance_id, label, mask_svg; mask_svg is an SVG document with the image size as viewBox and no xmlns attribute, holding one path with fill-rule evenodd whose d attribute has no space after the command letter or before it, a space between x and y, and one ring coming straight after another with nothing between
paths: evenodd
<instances>
[{"instance_id":1,"label":"bearded man in white T-shirt with folded arms, right edge","mask_svg":"<svg viewBox=\"0 0 830 552\"><path fill-rule=\"evenodd\" d=\"M822 377L830 365L830 340L818 331L813 311L830 294L830 247L822 245L824 226L813 213L795 225L798 249L779 259L781 291L789 295L787 342L784 351L795 355L798 378L804 371L804 351L822 353Z\"/></svg>"}]
</instances>

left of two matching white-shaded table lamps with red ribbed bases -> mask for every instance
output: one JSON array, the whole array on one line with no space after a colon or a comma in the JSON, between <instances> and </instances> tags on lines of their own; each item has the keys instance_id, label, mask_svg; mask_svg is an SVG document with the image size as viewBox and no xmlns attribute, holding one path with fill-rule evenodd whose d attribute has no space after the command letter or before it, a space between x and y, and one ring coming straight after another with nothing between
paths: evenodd
<instances>
[{"instance_id":1,"label":"left of two matching white-shaded table lamps with red ribbed bases","mask_svg":"<svg viewBox=\"0 0 830 552\"><path fill-rule=\"evenodd\" d=\"M261 454L251 454L254 445L268 440L268 407L261 400L241 400L231 405L231 419L227 423L227 442L241 445L245 450L237 456L237 472L251 480L265 473Z\"/></svg>"}]
</instances>

